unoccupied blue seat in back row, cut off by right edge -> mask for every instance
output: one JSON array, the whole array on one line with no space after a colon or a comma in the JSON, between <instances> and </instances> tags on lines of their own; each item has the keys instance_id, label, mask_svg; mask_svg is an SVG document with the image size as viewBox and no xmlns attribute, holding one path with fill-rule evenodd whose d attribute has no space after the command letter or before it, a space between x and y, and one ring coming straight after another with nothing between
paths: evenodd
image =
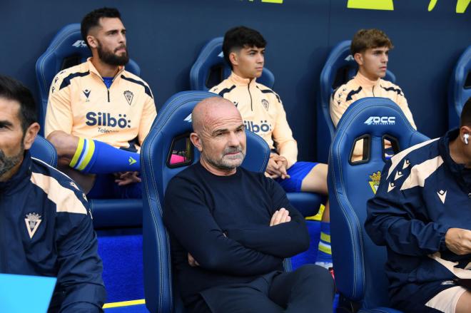
<instances>
[{"instance_id":1,"label":"unoccupied blue seat in back row, cut off by right edge","mask_svg":"<svg viewBox=\"0 0 471 313\"><path fill-rule=\"evenodd\" d=\"M460 125L460 115L468 98L471 97L471 46L458 59L448 90L448 128Z\"/></svg>"}]
</instances>

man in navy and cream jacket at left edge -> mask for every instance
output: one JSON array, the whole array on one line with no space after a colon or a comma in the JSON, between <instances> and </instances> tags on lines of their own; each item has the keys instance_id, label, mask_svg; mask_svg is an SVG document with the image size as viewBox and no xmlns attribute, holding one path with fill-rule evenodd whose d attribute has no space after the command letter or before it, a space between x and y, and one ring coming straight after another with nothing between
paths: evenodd
<instances>
[{"instance_id":1,"label":"man in navy and cream jacket at left edge","mask_svg":"<svg viewBox=\"0 0 471 313\"><path fill-rule=\"evenodd\" d=\"M49 312L103 312L103 266L88 203L70 178L31 158L36 121L31 92L0 76L0 272L57 277Z\"/></svg>"}]
</instances>

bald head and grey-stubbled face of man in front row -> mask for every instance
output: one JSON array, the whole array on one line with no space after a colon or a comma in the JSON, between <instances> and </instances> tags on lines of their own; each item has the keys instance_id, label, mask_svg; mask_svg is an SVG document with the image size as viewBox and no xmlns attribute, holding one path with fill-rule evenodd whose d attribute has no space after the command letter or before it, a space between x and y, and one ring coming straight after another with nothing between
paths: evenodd
<instances>
[{"instance_id":1,"label":"bald head and grey-stubbled face of man in front row","mask_svg":"<svg viewBox=\"0 0 471 313\"><path fill-rule=\"evenodd\" d=\"M201 152L201 163L216 175L230 175L245 158L245 128L233 103L208 110L193 144Z\"/></svg>"}]
</instances>

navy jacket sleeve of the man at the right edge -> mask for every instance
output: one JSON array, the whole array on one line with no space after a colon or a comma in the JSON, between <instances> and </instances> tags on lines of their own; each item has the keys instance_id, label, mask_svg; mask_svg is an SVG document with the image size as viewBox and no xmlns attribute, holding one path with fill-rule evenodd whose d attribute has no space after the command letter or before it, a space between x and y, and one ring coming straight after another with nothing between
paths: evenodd
<instances>
[{"instance_id":1,"label":"navy jacket sleeve of the man at the right edge","mask_svg":"<svg viewBox=\"0 0 471 313\"><path fill-rule=\"evenodd\" d=\"M383 169L375 197L368 200L366 232L376 245L387 245L402 255L421 256L446 250L445 233L449 227L425 218L420 188L401 190L405 177L397 179L397 169L387 179L390 165L389 161Z\"/></svg>"}]
</instances>

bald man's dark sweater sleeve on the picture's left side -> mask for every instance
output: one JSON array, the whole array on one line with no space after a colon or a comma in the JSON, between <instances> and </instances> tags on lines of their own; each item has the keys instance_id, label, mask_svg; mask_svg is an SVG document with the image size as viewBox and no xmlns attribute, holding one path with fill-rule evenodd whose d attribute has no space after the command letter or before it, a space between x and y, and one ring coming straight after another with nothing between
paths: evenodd
<instances>
[{"instance_id":1,"label":"bald man's dark sweater sleeve on the picture's left side","mask_svg":"<svg viewBox=\"0 0 471 313\"><path fill-rule=\"evenodd\" d=\"M163 222L206 270L245 276L280 267L279 257L244 247L226 237L211 215L201 190L182 178L175 177L168 185Z\"/></svg>"}]
</instances>

